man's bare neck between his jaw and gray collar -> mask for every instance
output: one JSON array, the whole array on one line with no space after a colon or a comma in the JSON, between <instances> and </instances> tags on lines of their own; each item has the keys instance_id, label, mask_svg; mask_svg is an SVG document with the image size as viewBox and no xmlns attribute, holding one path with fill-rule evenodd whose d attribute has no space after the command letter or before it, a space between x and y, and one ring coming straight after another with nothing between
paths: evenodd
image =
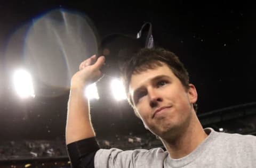
<instances>
[{"instance_id":1,"label":"man's bare neck between his jaw and gray collar","mask_svg":"<svg viewBox=\"0 0 256 168\"><path fill-rule=\"evenodd\" d=\"M161 139L171 158L185 157L200 145L207 137L201 123L195 115L187 128L172 138Z\"/></svg>"}]
</instances>

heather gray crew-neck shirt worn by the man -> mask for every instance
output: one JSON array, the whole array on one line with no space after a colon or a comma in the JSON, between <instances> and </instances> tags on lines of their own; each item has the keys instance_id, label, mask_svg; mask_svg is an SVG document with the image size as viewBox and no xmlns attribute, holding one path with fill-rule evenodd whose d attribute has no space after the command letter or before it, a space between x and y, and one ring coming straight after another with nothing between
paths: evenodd
<instances>
[{"instance_id":1,"label":"heather gray crew-neck shirt worn by the man","mask_svg":"<svg viewBox=\"0 0 256 168\"><path fill-rule=\"evenodd\" d=\"M204 131L209 135L189 155L173 159L162 148L150 150L100 149L95 154L95 168L123 167L256 167L256 137L216 132L211 128Z\"/></svg>"}]
</instances>

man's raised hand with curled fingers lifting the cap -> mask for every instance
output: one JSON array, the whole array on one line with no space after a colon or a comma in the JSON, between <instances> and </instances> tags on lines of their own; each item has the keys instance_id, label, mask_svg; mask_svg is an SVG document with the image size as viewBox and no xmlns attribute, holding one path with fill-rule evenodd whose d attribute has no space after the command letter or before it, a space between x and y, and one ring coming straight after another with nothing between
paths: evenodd
<instances>
[{"instance_id":1,"label":"man's raised hand with curled fingers lifting the cap","mask_svg":"<svg viewBox=\"0 0 256 168\"><path fill-rule=\"evenodd\" d=\"M79 71L71 78L71 88L83 88L98 81L103 74L100 68L105 62L105 57L100 56L96 60L96 55L91 56L79 65Z\"/></svg>"}]
</instances>

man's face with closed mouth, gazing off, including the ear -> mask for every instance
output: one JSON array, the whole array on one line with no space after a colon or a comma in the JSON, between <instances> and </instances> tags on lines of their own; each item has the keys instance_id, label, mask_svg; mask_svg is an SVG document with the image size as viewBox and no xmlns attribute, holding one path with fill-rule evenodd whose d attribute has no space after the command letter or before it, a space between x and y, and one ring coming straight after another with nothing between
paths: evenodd
<instances>
[{"instance_id":1,"label":"man's face with closed mouth, gazing off, including the ear","mask_svg":"<svg viewBox=\"0 0 256 168\"><path fill-rule=\"evenodd\" d=\"M162 138L188 127L197 100L194 85L185 89L164 63L133 74L129 93L145 127Z\"/></svg>"}]
</instances>

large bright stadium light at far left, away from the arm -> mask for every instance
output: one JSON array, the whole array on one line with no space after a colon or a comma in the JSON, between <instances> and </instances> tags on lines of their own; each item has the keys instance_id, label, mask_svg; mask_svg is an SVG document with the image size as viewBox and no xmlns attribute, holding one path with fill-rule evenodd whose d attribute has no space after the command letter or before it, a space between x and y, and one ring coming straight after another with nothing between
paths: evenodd
<instances>
[{"instance_id":1,"label":"large bright stadium light at far left, away from the arm","mask_svg":"<svg viewBox=\"0 0 256 168\"><path fill-rule=\"evenodd\" d=\"M14 88L22 98L35 97L34 86L30 73L24 69L19 69L13 75Z\"/></svg>"}]
</instances>

